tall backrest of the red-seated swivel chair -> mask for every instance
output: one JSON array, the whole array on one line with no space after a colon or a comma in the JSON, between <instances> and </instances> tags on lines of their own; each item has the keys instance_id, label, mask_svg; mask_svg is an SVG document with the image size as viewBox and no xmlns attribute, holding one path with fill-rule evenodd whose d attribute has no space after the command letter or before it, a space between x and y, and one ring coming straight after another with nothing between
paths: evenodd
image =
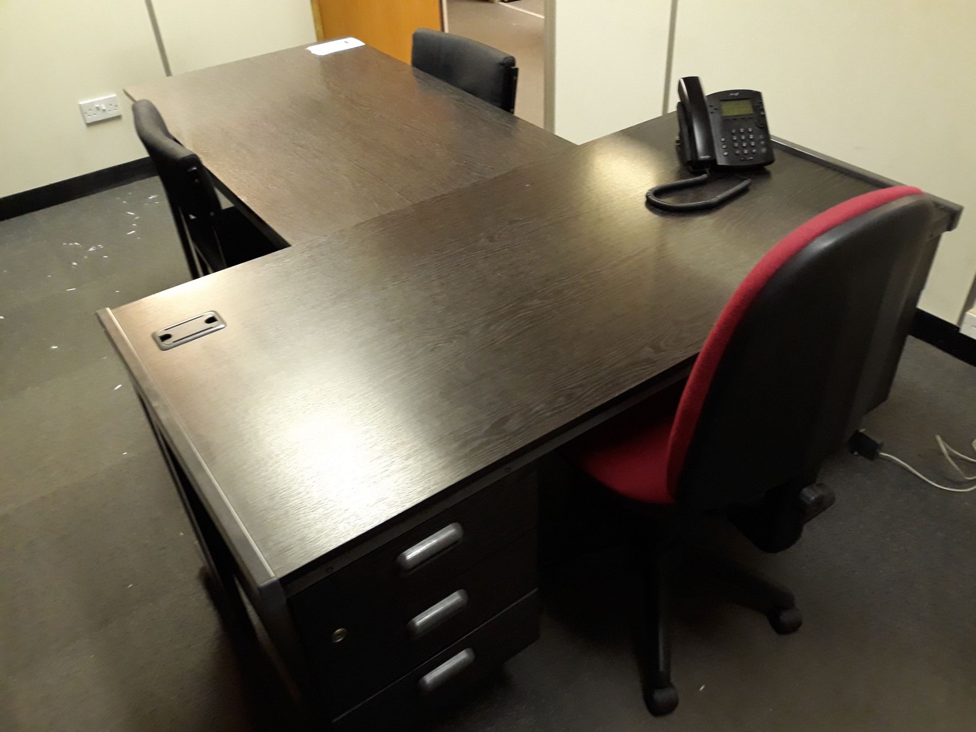
<instances>
[{"instance_id":1,"label":"tall backrest of the red-seated swivel chair","mask_svg":"<svg viewBox=\"0 0 976 732\"><path fill-rule=\"evenodd\" d=\"M858 196L799 227L726 305L685 386L669 483L694 509L806 475L887 395L935 254L917 188Z\"/></svg>"}]
</instances>

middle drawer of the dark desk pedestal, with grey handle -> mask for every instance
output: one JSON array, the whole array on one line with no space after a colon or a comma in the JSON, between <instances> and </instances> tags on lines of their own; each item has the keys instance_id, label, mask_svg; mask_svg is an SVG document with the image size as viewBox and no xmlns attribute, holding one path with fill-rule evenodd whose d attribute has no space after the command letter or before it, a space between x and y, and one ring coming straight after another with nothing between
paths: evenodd
<instances>
[{"instance_id":1,"label":"middle drawer of the dark desk pedestal, with grey handle","mask_svg":"<svg viewBox=\"0 0 976 732\"><path fill-rule=\"evenodd\" d=\"M396 601L370 593L338 612L323 608L319 628L305 643L330 709L348 709L535 587L531 531L437 588Z\"/></svg>"}]
</instances>

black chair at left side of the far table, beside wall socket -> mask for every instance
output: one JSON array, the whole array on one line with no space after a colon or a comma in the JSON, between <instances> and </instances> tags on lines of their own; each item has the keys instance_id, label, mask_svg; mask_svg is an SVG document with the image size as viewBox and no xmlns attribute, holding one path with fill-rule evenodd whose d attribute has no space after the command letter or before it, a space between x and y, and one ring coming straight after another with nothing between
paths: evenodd
<instances>
[{"instance_id":1,"label":"black chair at left side of the far table, beside wall socket","mask_svg":"<svg viewBox=\"0 0 976 732\"><path fill-rule=\"evenodd\" d=\"M221 208L200 158L170 135L152 102L140 100L132 111L136 133L169 199L186 265L194 279L276 249L237 209Z\"/></svg>"}]
</instances>

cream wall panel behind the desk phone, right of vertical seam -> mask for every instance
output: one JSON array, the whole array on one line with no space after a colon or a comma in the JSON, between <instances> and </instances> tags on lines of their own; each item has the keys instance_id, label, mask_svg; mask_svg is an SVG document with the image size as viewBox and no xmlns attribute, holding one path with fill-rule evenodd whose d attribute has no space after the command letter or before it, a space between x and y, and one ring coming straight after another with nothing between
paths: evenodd
<instances>
[{"instance_id":1,"label":"cream wall panel behind the desk phone, right of vertical seam","mask_svg":"<svg viewBox=\"0 0 976 732\"><path fill-rule=\"evenodd\" d=\"M758 89L774 135L966 206L920 303L956 323L976 277L973 28L972 0L680 0L672 78Z\"/></svg>"}]
</instances>

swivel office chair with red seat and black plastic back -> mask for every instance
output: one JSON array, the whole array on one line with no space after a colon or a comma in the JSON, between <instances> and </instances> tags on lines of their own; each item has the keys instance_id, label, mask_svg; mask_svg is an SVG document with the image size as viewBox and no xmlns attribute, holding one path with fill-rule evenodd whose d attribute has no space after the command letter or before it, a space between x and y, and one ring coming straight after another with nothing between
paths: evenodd
<instances>
[{"instance_id":1,"label":"swivel office chair with red seat and black plastic back","mask_svg":"<svg viewBox=\"0 0 976 732\"><path fill-rule=\"evenodd\" d=\"M724 512L759 549L787 549L833 503L821 463L883 401L909 315L935 253L935 207L920 190L885 188L795 229L725 305L687 382L571 442L563 454L628 508ZM720 244L716 244L720 246ZM629 511L654 513L662 508ZM667 575L671 535L639 524L646 637L644 700L677 706L671 684ZM721 572L762 601L775 630L797 630L793 594L745 570Z\"/></svg>"}]
</instances>

